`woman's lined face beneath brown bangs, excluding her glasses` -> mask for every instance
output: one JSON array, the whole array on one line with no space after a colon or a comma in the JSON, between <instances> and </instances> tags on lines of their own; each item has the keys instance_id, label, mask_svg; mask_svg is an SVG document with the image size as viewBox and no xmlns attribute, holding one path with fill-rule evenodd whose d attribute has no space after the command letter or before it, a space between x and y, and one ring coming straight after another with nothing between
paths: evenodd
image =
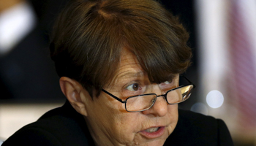
<instances>
[{"instance_id":1,"label":"woman's lined face beneath brown bangs, excluding her glasses","mask_svg":"<svg viewBox=\"0 0 256 146\"><path fill-rule=\"evenodd\" d=\"M162 95L162 89L177 86L178 75L159 85L150 84L135 56L124 50L113 82L105 90L124 101L143 93ZM163 145L178 121L178 105L167 104L162 96L143 112L127 112L124 104L104 92L91 99L84 90L83 96L86 123L96 145Z\"/></svg>"}]
</instances>

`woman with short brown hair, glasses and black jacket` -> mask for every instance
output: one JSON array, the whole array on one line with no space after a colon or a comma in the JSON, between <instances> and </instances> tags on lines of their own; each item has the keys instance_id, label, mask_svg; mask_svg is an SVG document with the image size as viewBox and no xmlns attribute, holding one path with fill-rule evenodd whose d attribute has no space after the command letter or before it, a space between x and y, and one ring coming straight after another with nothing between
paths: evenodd
<instances>
[{"instance_id":1,"label":"woman with short brown hair, glasses and black jacket","mask_svg":"<svg viewBox=\"0 0 256 146\"><path fill-rule=\"evenodd\" d=\"M187 39L157 1L72 1L50 44L68 102L4 146L233 145L222 120L178 110L195 87L178 85Z\"/></svg>"}]
</instances>

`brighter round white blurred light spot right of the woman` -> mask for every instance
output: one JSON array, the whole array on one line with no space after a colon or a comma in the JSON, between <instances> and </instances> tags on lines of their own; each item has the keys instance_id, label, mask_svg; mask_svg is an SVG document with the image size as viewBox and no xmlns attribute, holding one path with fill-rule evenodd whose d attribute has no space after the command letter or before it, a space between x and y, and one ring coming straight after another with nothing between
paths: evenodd
<instances>
[{"instance_id":1,"label":"brighter round white blurred light spot right of the woman","mask_svg":"<svg viewBox=\"0 0 256 146\"><path fill-rule=\"evenodd\" d=\"M206 102L208 106L212 108L221 107L224 101L224 97L219 91L210 91L206 96Z\"/></svg>"}]
</instances>

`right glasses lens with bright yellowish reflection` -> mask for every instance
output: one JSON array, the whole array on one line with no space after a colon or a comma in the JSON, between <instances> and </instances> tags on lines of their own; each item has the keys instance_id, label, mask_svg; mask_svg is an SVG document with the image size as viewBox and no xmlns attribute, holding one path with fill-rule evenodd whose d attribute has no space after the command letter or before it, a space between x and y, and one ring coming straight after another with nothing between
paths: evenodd
<instances>
[{"instance_id":1,"label":"right glasses lens with bright yellowish reflection","mask_svg":"<svg viewBox=\"0 0 256 146\"><path fill-rule=\"evenodd\" d=\"M178 88L174 91L167 93L167 102L168 104L178 104L182 101L189 99L189 96L192 93L193 85L187 85L181 88Z\"/></svg>"}]
</instances>

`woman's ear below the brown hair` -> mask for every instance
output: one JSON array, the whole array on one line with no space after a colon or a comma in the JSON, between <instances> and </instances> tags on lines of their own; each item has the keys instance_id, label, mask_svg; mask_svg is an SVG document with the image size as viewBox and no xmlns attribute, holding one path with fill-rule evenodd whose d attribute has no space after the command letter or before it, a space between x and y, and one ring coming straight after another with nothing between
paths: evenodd
<instances>
[{"instance_id":1,"label":"woman's ear below the brown hair","mask_svg":"<svg viewBox=\"0 0 256 146\"><path fill-rule=\"evenodd\" d=\"M72 107L79 112L81 115L87 116L86 111L86 97L81 94L83 87L76 80L72 80L69 77L61 77L59 80L61 91L67 97L67 100Z\"/></svg>"}]
</instances>

